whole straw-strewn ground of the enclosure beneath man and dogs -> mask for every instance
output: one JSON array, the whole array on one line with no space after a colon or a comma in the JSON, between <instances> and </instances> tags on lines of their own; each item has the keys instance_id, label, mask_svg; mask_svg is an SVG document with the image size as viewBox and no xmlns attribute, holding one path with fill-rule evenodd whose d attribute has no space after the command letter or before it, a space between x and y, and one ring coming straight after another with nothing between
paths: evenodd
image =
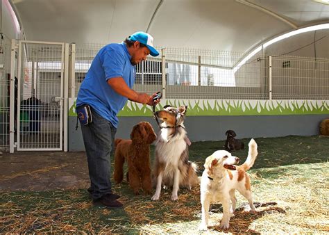
<instances>
[{"instance_id":1,"label":"whole straw-strewn ground of the enclosure beneath man and dogs","mask_svg":"<svg viewBox=\"0 0 329 235\"><path fill-rule=\"evenodd\" d=\"M242 139L248 143L249 139ZM208 232L199 232L199 186L180 189L171 202L171 190L160 200L134 195L126 179L113 184L124 209L106 209L92 203L84 152L17 152L0 156L0 232L92 233L325 233L329 232L329 138L286 136L255 138L258 159L248 174L256 213L244 211L247 202L237 195L237 211L230 228L219 228L221 204L210 206ZM205 158L224 141L192 143L189 159L203 172ZM234 152L240 163L248 149ZM153 163L154 147L151 147ZM114 161L112 161L113 172ZM112 180L113 182L113 180ZM153 190L154 192L154 190Z\"/></svg>"}]
</instances>

